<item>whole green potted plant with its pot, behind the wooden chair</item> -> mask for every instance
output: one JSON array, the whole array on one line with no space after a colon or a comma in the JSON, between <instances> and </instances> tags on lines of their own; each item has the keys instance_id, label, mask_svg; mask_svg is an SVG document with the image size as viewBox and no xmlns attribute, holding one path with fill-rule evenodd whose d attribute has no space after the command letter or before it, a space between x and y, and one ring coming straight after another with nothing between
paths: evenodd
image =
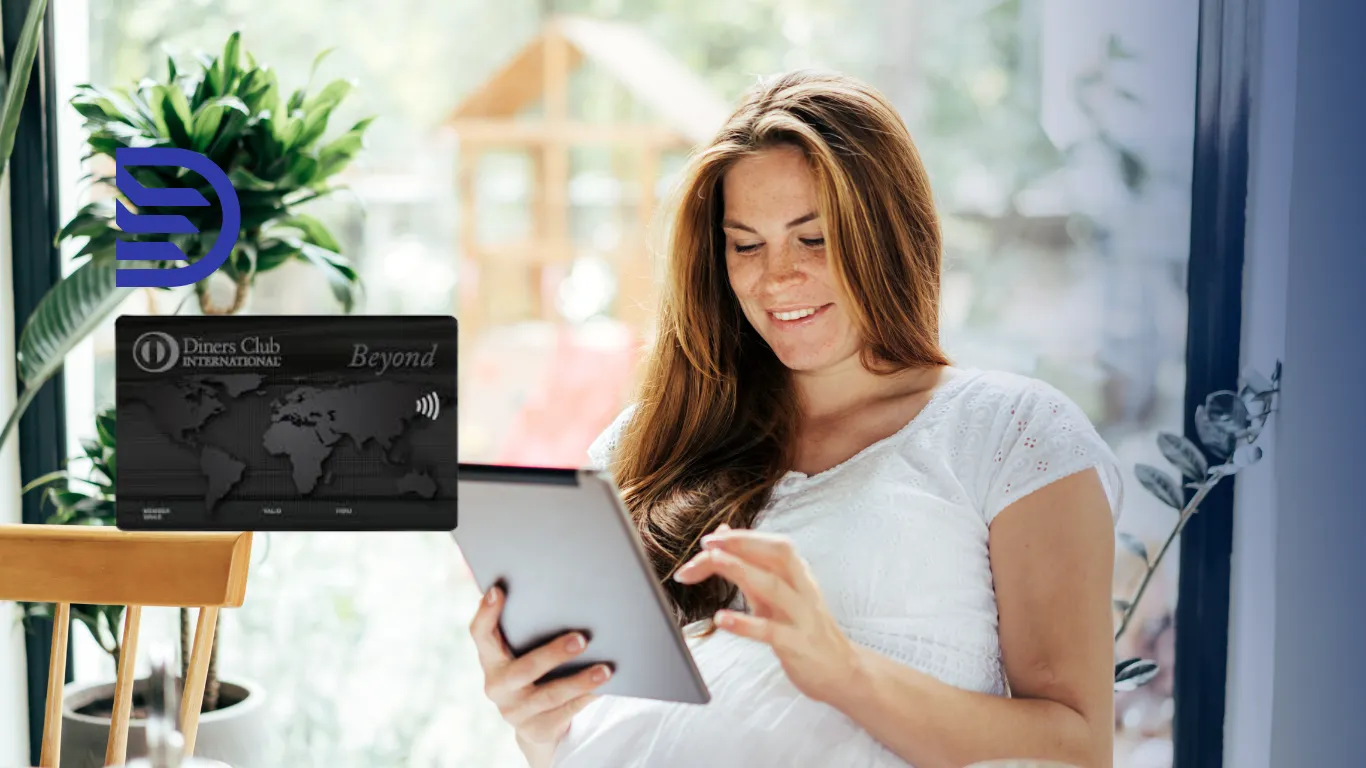
<instances>
[{"instance_id":1,"label":"whole green potted plant with its pot, behind the wooden chair","mask_svg":"<svg viewBox=\"0 0 1366 768\"><path fill-rule=\"evenodd\" d=\"M37 5L36 5L37 8ZM41 18L41 10L36 12ZM34 18L34 16L30 16ZM37 29L37 27L36 27ZM36 40L36 38L34 38ZM22 53L22 51L20 51ZM314 72L324 55L314 61ZM16 63L19 61L16 56ZM31 56L29 57L31 61ZM11 92L16 83L11 82ZM310 82L285 96L269 67L242 51L234 33L221 55L199 55L197 67L179 71L168 60L163 82L143 81L135 89L104 90L81 86L72 107L85 118L89 131L87 157L104 175L92 174L96 184L108 187L112 197L82 208L61 228L57 242L85 239L76 258L82 264L56 283L29 317L19 338L19 377L23 391L10 414L0 445L4 445L33 396L57 370L66 355L98 328L127 298L131 288L115 284L115 245L117 241L153 239L128 235L115 224L112 160L124 146L171 146L201 152L228 175L238 193L242 224L232 256L219 269L231 284L225 303L213 299L208 282L194 286L199 309L205 314L232 314L246 307L255 280L290 260L313 265L326 280L343 312L351 312L359 295L359 277L340 254L340 246L328 228L303 212L303 206L342 187L335 176L363 148L370 119L361 120L329 139L328 123L337 105L347 97L351 83L333 81L316 93ZM23 87L18 93L22 96ZM0 139L8 130L10 142L0 141L0 161L12 143L10 104L0 120ZM18 109L14 109L15 120ZM190 186L213 200L212 189L197 175L178 168L135 167L134 178L149 187ZM124 204L128 202L124 200ZM130 209L134 206L128 205ZM189 261L202 257L217 236L219 213L214 206L179 209L199 231L171 235ZM124 262L127 265L127 262ZM168 268L172 262L153 262ZM115 418L104 410L96 420L96 437L83 441L87 471L67 470L31 482L25 492L41 488L53 510L49 522L59 525L113 525L115 480L117 471ZM30 605L26 615L38 615L46 607ZM122 607L72 607L72 618L85 625L100 646L111 656L108 683L72 686L66 694L63 715L63 754L78 768L96 768L104 754L113 693L113 670L120 655ZM189 657L190 612L180 612L183 657ZM262 689L247 681L220 681L217 675L217 641L209 667L201 716L197 754L227 761L235 768L266 768L266 756L258 754L265 734L261 731ZM183 660L182 660L183 664ZM139 683L141 685L141 683ZM137 690L137 689L135 689ZM134 713L137 717L137 712ZM130 756L142 742L142 723L130 728ZM64 760L63 765L68 765Z\"/></svg>"}]
</instances>

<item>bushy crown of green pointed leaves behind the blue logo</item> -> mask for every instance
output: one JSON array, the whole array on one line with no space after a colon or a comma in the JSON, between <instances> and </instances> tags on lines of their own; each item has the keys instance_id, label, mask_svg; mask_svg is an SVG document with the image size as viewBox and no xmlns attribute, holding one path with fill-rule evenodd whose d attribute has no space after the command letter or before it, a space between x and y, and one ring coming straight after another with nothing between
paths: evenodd
<instances>
[{"instance_id":1,"label":"bushy crown of green pointed leaves behind the blue logo","mask_svg":"<svg viewBox=\"0 0 1366 768\"><path fill-rule=\"evenodd\" d=\"M314 72L326 53L314 61ZM333 111L352 85L337 79L309 93L310 74L309 83L287 97L276 74L242 51L238 33L228 38L217 59L201 56L190 72L180 72L175 60L168 59L167 68L167 82L143 81L133 90L79 86L71 105L90 131L86 139L90 157L104 156L108 164L126 146L190 149L208 156L228 175L242 206L242 225L238 246L221 272L232 280L235 292L231 305L217 306L206 286L198 283L195 291L204 313L238 312L255 277L291 258L317 266L350 312L357 273L342 258L326 227L301 206L333 191L333 176L362 148L370 118L324 141ZM208 182L180 168L137 165L128 171L143 186L190 186L210 200L214 197ZM96 180L112 182L108 176ZM216 206L178 209L178 213L198 232L171 239L195 261L217 236L221 215ZM81 236L89 238L81 249L82 257L112 256L117 239L130 239L115 228L108 200L85 206L57 239Z\"/></svg>"}]
</instances>

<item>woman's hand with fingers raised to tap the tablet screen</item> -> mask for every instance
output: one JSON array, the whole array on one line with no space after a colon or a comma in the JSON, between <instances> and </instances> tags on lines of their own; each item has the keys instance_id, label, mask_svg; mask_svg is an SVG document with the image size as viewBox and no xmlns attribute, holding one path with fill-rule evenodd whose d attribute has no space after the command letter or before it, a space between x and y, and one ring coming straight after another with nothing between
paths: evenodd
<instances>
[{"instance_id":1,"label":"woman's hand with fingers raised to tap the tablet screen","mask_svg":"<svg viewBox=\"0 0 1366 768\"><path fill-rule=\"evenodd\" d=\"M790 538L723 525L702 538L702 552L673 578L698 584L713 575L735 584L753 609L717 611L717 627L772 646L787 676L810 698L829 701L851 685L858 653Z\"/></svg>"}]
</instances>

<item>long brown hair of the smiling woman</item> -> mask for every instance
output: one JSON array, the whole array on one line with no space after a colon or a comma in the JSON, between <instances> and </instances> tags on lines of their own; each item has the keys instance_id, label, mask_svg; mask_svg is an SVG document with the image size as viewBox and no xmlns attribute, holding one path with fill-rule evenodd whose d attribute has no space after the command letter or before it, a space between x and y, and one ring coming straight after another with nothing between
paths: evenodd
<instances>
[{"instance_id":1,"label":"long brown hair of the smiling woman","mask_svg":"<svg viewBox=\"0 0 1366 768\"><path fill-rule=\"evenodd\" d=\"M731 291L720 224L725 171L777 145L810 163L865 365L948 365L938 346L938 217L906 124L851 78L798 71L755 86L684 172L658 332L611 467L680 625L710 618L735 588L669 577L717 525L750 527L792 461L796 394Z\"/></svg>"}]
</instances>

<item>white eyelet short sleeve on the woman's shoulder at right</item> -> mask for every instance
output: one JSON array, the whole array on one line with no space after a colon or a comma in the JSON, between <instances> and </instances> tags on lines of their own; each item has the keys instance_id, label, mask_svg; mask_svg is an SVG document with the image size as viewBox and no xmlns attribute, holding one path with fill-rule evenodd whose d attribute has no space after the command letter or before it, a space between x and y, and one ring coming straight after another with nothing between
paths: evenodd
<instances>
[{"instance_id":1,"label":"white eyelet short sleeve on the woman's shoulder at right","mask_svg":"<svg viewBox=\"0 0 1366 768\"><path fill-rule=\"evenodd\" d=\"M985 473L986 525L1019 499L1091 467L1105 486L1111 519L1117 522L1124 485L1115 452L1071 398L1044 381L1026 381L1018 396L1004 402L1008 413L996 420L999 441Z\"/></svg>"}]
</instances>

